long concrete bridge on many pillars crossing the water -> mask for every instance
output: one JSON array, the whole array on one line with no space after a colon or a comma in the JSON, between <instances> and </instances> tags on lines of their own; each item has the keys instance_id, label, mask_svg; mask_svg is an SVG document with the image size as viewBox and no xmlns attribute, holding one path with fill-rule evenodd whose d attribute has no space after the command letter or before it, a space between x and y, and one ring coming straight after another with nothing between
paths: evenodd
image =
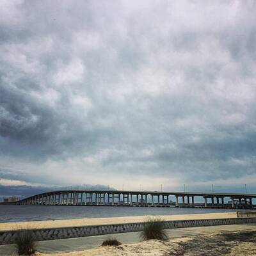
<instances>
[{"instance_id":1,"label":"long concrete bridge on many pillars crossing the water","mask_svg":"<svg viewBox=\"0 0 256 256\"><path fill-rule=\"evenodd\" d=\"M174 202L171 199L174 198ZM195 203L195 196L203 203ZM106 205L140 207L214 207L252 209L256 194L124 190L61 190L29 196L15 205ZM3 203L2 203L3 204Z\"/></svg>"}]
</instances>

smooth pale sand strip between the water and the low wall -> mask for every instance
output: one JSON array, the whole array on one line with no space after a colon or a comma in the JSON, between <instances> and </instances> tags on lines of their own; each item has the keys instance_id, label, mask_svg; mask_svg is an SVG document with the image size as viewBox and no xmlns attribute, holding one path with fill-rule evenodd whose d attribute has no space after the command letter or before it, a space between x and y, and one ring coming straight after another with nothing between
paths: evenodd
<instances>
[{"instance_id":1,"label":"smooth pale sand strip between the water and the low wall","mask_svg":"<svg viewBox=\"0 0 256 256\"><path fill-rule=\"evenodd\" d=\"M206 220L237 218L236 212L216 212L204 214L183 214L160 216L163 220ZM0 231L13 230L17 228L57 228L57 227L79 227L88 225L138 223L147 221L148 216L129 216L115 218L83 218L72 220L47 220L47 221L23 221L0 223Z\"/></svg>"}]
</instances>

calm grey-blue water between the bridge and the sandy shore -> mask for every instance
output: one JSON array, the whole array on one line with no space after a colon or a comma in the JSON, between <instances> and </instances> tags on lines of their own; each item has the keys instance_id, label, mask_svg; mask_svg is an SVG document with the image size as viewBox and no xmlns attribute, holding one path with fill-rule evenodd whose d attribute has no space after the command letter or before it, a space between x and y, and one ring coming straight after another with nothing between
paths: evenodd
<instances>
[{"instance_id":1,"label":"calm grey-blue water between the bridge and the sandy shore","mask_svg":"<svg viewBox=\"0 0 256 256\"><path fill-rule=\"evenodd\" d=\"M0 222L64 220L143 215L174 215L231 212L230 209L193 209L175 207L104 207L67 205L0 205Z\"/></svg>"}]
</instances>

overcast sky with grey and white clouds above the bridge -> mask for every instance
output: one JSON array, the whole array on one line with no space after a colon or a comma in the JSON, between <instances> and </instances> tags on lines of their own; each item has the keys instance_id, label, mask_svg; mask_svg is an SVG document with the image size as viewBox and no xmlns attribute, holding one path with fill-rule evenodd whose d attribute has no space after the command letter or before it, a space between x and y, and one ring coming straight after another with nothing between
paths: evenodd
<instances>
[{"instance_id":1,"label":"overcast sky with grey and white clouds above the bridge","mask_svg":"<svg viewBox=\"0 0 256 256\"><path fill-rule=\"evenodd\" d=\"M255 13L1 0L0 184L253 189Z\"/></svg>"}]
</instances>

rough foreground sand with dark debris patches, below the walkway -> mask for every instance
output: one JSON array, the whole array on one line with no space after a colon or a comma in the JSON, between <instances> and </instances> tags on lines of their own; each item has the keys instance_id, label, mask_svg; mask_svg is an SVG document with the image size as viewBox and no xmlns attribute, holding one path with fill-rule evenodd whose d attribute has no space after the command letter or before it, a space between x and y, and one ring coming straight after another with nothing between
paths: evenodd
<instances>
[{"instance_id":1,"label":"rough foreground sand with dark debris patches, below the walkway","mask_svg":"<svg viewBox=\"0 0 256 256\"><path fill-rule=\"evenodd\" d=\"M218 232L193 237L180 237L167 241L149 240L120 246L70 253L43 254L40 256L248 256L256 255L256 232Z\"/></svg>"}]
</instances>

